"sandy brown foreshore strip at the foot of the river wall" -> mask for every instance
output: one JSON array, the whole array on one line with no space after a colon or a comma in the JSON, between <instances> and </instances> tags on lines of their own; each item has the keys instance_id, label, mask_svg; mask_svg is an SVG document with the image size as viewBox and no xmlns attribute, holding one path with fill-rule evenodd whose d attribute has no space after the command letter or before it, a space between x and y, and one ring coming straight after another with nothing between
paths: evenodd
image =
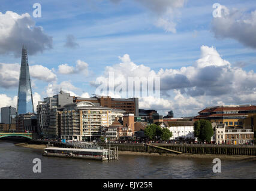
<instances>
[{"instance_id":1,"label":"sandy brown foreshore strip at the foot of the river wall","mask_svg":"<svg viewBox=\"0 0 256 191\"><path fill-rule=\"evenodd\" d=\"M40 149L44 150L46 144L28 144L28 143L17 143L16 146L26 147L31 149ZM243 159L255 159L256 156L246 156L246 155L212 155L212 154L191 154L191 153L182 153L177 154L168 154L168 153L145 153L145 152L131 152L131 151L121 151L119 150L119 155L135 155L135 156L163 156L163 157L172 157L172 158L197 158L197 159L227 159L239 161Z\"/></svg>"}]
</instances>

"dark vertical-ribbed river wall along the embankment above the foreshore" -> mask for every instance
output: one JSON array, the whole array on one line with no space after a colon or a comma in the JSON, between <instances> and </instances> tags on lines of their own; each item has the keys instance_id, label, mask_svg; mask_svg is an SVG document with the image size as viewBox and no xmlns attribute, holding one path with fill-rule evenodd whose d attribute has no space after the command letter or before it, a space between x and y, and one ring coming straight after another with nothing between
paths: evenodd
<instances>
[{"instance_id":1,"label":"dark vertical-ribbed river wall along the embankment above the foreshore","mask_svg":"<svg viewBox=\"0 0 256 191\"><path fill-rule=\"evenodd\" d=\"M54 144L58 147L68 147L67 143L58 141L31 140L30 144ZM98 143L106 148L106 143ZM192 153L214 155L250 155L256 156L256 146L251 145L227 145L227 144L164 144L164 143L108 143L108 147L118 147L120 151L144 152L144 153ZM156 146L156 147L154 147ZM172 152L176 151L176 152Z\"/></svg>"}]
</instances>

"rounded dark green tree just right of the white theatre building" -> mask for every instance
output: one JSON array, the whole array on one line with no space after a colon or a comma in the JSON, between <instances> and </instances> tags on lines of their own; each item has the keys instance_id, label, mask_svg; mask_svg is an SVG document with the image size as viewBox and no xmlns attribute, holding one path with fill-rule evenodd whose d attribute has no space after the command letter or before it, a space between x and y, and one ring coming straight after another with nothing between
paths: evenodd
<instances>
[{"instance_id":1,"label":"rounded dark green tree just right of the white theatre building","mask_svg":"<svg viewBox=\"0 0 256 191\"><path fill-rule=\"evenodd\" d=\"M212 124L210 121L201 119L194 122L194 135L200 141L210 142L213 136Z\"/></svg>"}]
</instances>

